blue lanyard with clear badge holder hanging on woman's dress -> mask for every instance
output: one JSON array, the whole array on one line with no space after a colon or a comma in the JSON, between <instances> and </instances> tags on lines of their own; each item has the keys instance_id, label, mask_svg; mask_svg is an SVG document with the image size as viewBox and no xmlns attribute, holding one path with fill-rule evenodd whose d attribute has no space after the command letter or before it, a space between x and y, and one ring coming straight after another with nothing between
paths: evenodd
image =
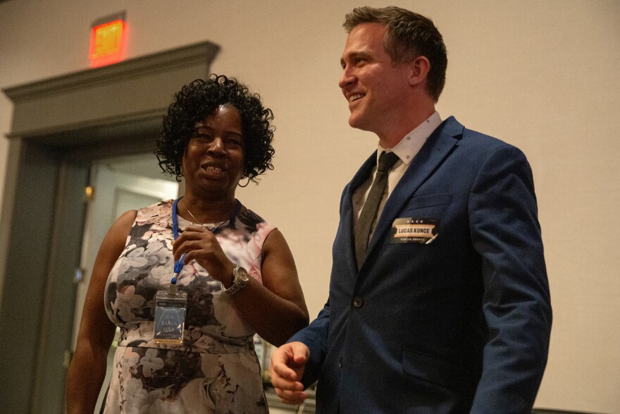
<instances>
[{"instance_id":1,"label":"blue lanyard with clear badge holder hanging on woman's dress","mask_svg":"<svg viewBox=\"0 0 620 414\"><path fill-rule=\"evenodd\" d=\"M178 237L177 202L172 207L173 235ZM158 291L155 295L155 334L154 343L182 345L187 310L187 293L177 290L177 277L183 268L185 255L175 262L174 274L168 291Z\"/></svg>"}]
</instances>

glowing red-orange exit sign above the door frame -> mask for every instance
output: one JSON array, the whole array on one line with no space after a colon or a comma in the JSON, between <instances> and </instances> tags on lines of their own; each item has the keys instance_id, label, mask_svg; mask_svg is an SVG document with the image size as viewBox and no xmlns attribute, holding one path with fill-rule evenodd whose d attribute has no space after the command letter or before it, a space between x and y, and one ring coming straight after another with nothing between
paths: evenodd
<instances>
[{"instance_id":1,"label":"glowing red-orange exit sign above the door frame","mask_svg":"<svg viewBox=\"0 0 620 414\"><path fill-rule=\"evenodd\" d=\"M122 61L126 37L125 12L94 22L90 31L91 66L105 66Z\"/></svg>"}]
</instances>

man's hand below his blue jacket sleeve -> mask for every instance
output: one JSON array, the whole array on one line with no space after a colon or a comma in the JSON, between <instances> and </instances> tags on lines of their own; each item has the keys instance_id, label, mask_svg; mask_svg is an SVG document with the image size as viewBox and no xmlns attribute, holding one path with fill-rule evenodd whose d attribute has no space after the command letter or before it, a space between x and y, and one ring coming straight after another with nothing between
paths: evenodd
<instances>
[{"instance_id":1,"label":"man's hand below his blue jacket sleeve","mask_svg":"<svg viewBox=\"0 0 620 414\"><path fill-rule=\"evenodd\" d=\"M310 350L301 342L285 343L271 354L271 383L283 403L298 405L308 398L302 377L309 356Z\"/></svg>"}]
</instances>

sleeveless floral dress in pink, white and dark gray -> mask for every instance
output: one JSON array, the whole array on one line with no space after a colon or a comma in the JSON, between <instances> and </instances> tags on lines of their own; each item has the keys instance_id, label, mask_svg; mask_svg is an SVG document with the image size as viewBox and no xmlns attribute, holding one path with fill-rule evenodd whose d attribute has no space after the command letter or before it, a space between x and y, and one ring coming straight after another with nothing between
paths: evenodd
<instances>
[{"instance_id":1,"label":"sleeveless floral dress in pink, white and dark gray","mask_svg":"<svg viewBox=\"0 0 620 414\"><path fill-rule=\"evenodd\" d=\"M154 297L173 275L173 200L140 209L105 292L120 328L104 413L268 413L254 330L220 282L193 261L177 281L187 292L183 344L156 344ZM192 224L178 216L179 233ZM215 232L226 256L262 283L261 250L274 228L247 209Z\"/></svg>"}]
</instances>

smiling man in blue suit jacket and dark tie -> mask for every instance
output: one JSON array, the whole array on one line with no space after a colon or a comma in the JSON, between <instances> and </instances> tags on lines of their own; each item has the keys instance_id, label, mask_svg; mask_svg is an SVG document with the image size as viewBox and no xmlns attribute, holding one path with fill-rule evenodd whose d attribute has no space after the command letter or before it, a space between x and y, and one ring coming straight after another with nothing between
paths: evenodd
<instances>
[{"instance_id":1,"label":"smiling man in blue suit jacket and dark tie","mask_svg":"<svg viewBox=\"0 0 620 414\"><path fill-rule=\"evenodd\" d=\"M431 20L365 7L344 26L349 124L378 152L342 195L325 308L273 353L276 393L301 403L318 379L317 413L531 413L552 313L526 157L440 119Z\"/></svg>"}]
</instances>

